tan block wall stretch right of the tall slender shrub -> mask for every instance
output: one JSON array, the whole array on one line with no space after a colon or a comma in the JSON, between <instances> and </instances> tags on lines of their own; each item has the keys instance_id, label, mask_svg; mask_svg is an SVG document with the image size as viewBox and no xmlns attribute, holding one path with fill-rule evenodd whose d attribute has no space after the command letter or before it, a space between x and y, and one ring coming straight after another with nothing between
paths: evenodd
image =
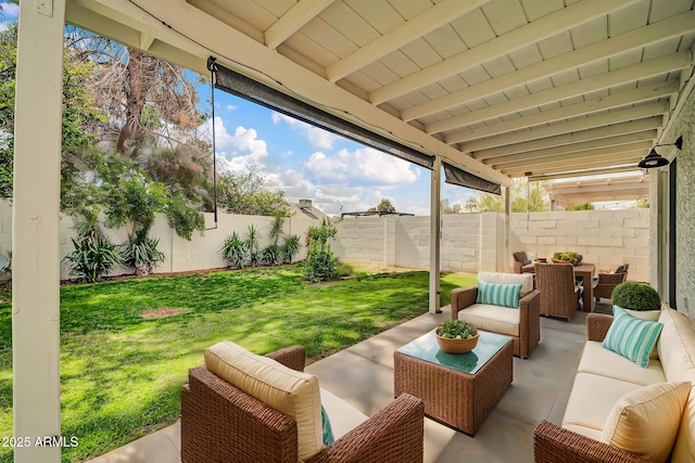
<instances>
[{"instance_id":1,"label":"tan block wall stretch right of the tall slender shrub","mask_svg":"<svg viewBox=\"0 0 695 463\"><path fill-rule=\"evenodd\" d=\"M429 217L359 217L338 223L336 254L343 260L429 268ZM511 214L509 252L504 250L504 216L495 213L442 217L441 268L504 271L511 253L535 257L573 250L597 270L630 263L632 281L648 281L648 209ZM391 237L391 233L395 233ZM392 244L395 244L392 247ZM393 250L392 250L393 249ZM388 257L387 257L388 256Z\"/></svg>"}]
</instances>

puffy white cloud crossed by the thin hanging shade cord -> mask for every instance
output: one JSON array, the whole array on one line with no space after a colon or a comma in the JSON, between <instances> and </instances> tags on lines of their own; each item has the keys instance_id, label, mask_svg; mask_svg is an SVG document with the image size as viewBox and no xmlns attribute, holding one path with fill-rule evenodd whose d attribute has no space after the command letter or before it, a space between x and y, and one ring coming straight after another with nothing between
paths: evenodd
<instances>
[{"instance_id":1,"label":"puffy white cloud crossed by the thin hanging shade cord","mask_svg":"<svg viewBox=\"0 0 695 463\"><path fill-rule=\"evenodd\" d=\"M208 139L212 138L211 120L201 127L201 132ZM215 117L215 141L220 170L241 171L249 166L263 167L264 159L268 156L266 142L258 139L254 129L239 126L233 134L229 133L220 117Z\"/></svg>"}]
</instances>

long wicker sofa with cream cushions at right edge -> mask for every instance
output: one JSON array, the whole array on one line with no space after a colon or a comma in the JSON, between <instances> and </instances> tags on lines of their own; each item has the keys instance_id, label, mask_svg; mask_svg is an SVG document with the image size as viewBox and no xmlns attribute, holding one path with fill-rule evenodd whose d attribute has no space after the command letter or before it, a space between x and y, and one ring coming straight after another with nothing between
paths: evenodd
<instances>
[{"instance_id":1,"label":"long wicker sofa with cream cushions at right edge","mask_svg":"<svg viewBox=\"0 0 695 463\"><path fill-rule=\"evenodd\" d=\"M695 461L695 329L684 314L673 309L664 308L655 317L664 327L656 353L653 351L647 368L641 368L602 346L612 316L587 314L587 340L563 424L543 421L536 426L535 462L662 461L654 456L657 454L654 447L658 446L665 447L660 454L666 454L672 463ZM654 397L642 398L643 402L637 400L645 391L661 388L680 388L682 411L679 412L679 404L672 399L672 390L659 391L658 400ZM669 400L668 406L661 398ZM629 433L614 434L615 423L620 420L623 424L631 423L633 419L640 420L640 426L632 423ZM670 441L662 436L668 429ZM617 443L611 440L616 436L627 437L631 443ZM657 446L653 446L654 442L658 442Z\"/></svg>"}]
</instances>

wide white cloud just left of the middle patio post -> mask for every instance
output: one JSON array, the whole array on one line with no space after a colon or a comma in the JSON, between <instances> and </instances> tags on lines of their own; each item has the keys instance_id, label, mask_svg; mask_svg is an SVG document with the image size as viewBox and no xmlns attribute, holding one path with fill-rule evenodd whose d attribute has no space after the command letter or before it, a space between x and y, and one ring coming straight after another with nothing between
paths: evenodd
<instances>
[{"instance_id":1,"label":"wide white cloud just left of the middle patio post","mask_svg":"<svg viewBox=\"0 0 695 463\"><path fill-rule=\"evenodd\" d=\"M371 147L312 154L304 168L319 182L382 188L413 183L419 176L405 160Z\"/></svg>"}]
</instances>

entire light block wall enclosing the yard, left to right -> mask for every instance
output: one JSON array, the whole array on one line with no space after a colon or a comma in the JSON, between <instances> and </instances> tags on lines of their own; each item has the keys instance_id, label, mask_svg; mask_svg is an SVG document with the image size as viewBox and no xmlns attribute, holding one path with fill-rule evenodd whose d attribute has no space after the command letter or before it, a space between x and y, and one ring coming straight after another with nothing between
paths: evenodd
<instances>
[{"instance_id":1,"label":"entire light block wall enclosing the yard, left to right","mask_svg":"<svg viewBox=\"0 0 695 463\"><path fill-rule=\"evenodd\" d=\"M205 228L194 232L191 241L176 235L166 217L157 216L150 235L159 237L157 248L166 260L155 273L223 268L219 255L225 239L236 231L243 235L250 224L261 234L261 247L270 244L270 217L218 214L215 226L212 214L205 214ZM344 261L377 266L429 269L429 217L358 217L338 222L338 235L331 247ZM320 220L307 217L287 219L286 234L296 234L302 244L308 227ZM629 280L648 281L649 211L579 210L513 214L509 249L505 249L505 217L501 214L459 214L442 216L441 268L446 271L509 271L511 253L527 250L535 257L551 257L559 250L574 250L598 270L615 270L630 263ZM105 230L114 243L127 239L127 231ZM73 250L73 220L61 216L61 256ZM12 207L0 204L0 253L12 246ZM295 260L304 259L302 246ZM119 269L115 274L132 272ZM61 270L61 278L70 275Z\"/></svg>"}]
</instances>

